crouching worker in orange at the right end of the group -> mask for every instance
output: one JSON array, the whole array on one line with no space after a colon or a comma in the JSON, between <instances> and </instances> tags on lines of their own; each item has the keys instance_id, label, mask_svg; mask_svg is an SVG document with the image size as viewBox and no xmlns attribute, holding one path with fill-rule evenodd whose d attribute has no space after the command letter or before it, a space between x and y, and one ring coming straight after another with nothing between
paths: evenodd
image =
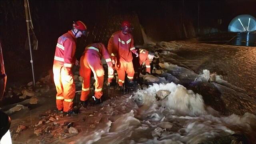
<instances>
[{"instance_id":1,"label":"crouching worker in orange at the right end of the group","mask_svg":"<svg viewBox=\"0 0 256 144\"><path fill-rule=\"evenodd\" d=\"M152 62L153 58L154 58L155 54L154 52L149 52L147 50L144 49L140 49L139 50L139 66L135 67L135 78L139 78L140 73L143 71L143 68L146 67L146 72L145 73L151 73L151 67L150 67L150 63ZM136 65L136 64L135 64Z\"/></svg>"}]
</instances>

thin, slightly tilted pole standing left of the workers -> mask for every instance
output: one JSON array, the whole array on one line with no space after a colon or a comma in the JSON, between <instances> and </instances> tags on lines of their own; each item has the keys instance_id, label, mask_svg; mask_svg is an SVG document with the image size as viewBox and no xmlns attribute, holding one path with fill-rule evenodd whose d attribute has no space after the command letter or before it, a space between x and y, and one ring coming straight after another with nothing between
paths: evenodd
<instances>
[{"instance_id":1,"label":"thin, slightly tilted pole standing left of the workers","mask_svg":"<svg viewBox=\"0 0 256 144\"><path fill-rule=\"evenodd\" d=\"M26 23L27 23L27 31L28 31L28 44L29 44L29 50L30 50L30 63L31 63L31 66L32 66L33 85L35 86L36 83L35 83L35 75L34 75L34 64L33 64L32 48L31 48L30 34L29 34L30 19L28 18L28 0L24 0L24 6L25 6L25 13L26 13Z\"/></svg>"}]
</instances>

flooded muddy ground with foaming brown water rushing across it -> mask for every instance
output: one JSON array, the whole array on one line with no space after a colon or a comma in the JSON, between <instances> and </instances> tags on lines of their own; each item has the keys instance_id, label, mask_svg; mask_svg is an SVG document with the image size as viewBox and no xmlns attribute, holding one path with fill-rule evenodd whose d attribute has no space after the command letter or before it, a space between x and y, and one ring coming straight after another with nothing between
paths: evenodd
<instances>
[{"instance_id":1,"label":"flooded muddy ground with foaming brown water rushing across it","mask_svg":"<svg viewBox=\"0 0 256 144\"><path fill-rule=\"evenodd\" d=\"M13 143L197 144L237 132L255 142L256 49L184 41L160 42L147 48L158 50L163 64L154 67L164 73L145 75L144 83L158 84L126 95L105 87L103 104L91 104L69 117L54 111L52 87L31 110L11 115ZM205 69L216 72L216 80L209 82ZM156 97L159 90L170 94L161 100ZM78 100L79 96L75 103ZM60 119L55 123L35 126L56 116ZM70 134L64 122L74 122L78 134ZM18 124L28 128L16 134ZM40 128L43 131L36 136L34 131Z\"/></svg>"}]
</instances>

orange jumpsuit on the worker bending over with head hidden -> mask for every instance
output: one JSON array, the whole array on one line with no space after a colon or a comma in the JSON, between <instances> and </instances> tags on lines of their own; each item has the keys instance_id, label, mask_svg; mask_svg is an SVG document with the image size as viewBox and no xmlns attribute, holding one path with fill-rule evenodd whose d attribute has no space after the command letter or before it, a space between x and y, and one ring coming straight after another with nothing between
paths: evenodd
<instances>
[{"instance_id":1,"label":"orange jumpsuit on the worker bending over with head hidden","mask_svg":"<svg viewBox=\"0 0 256 144\"><path fill-rule=\"evenodd\" d=\"M102 86L104 82L104 69L102 67L101 58L105 58L108 67L112 67L110 55L102 43L89 44L84 50L84 55L80 58L80 76L82 76L82 94L80 100L86 101L90 94L90 75L94 74L95 91L94 96L101 98Z\"/></svg>"}]
</instances>

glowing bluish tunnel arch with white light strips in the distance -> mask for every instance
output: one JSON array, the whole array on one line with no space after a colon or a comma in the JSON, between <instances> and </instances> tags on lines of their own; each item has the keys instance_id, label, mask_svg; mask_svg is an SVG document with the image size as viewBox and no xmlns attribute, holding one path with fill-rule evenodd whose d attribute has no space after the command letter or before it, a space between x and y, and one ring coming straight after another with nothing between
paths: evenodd
<instances>
[{"instance_id":1,"label":"glowing bluish tunnel arch with white light strips in the distance","mask_svg":"<svg viewBox=\"0 0 256 144\"><path fill-rule=\"evenodd\" d=\"M253 16L244 14L231 20L228 26L229 32L252 32L256 31L256 19Z\"/></svg>"}]
</instances>

